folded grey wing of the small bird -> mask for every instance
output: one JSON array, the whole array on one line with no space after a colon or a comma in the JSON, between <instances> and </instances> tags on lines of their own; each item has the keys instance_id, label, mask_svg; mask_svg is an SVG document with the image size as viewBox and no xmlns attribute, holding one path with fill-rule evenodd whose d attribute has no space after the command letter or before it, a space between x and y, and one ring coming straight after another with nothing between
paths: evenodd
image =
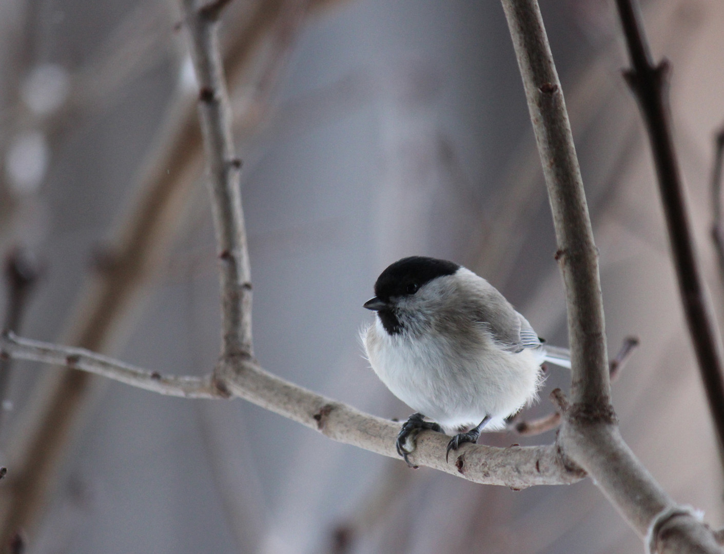
<instances>
[{"instance_id":1,"label":"folded grey wing of the small bird","mask_svg":"<svg viewBox=\"0 0 724 554\"><path fill-rule=\"evenodd\" d=\"M523 348L538 348L541 345L531 324L497 290L487 295L477 312L476 321L504 350L518 353Z\"/></svg>"}]
</instances>

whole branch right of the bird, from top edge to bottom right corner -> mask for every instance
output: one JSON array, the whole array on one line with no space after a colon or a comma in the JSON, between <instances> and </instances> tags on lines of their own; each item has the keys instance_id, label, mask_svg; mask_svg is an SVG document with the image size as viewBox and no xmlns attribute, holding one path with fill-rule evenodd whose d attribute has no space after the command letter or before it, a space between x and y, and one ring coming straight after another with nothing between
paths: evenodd
<instances>
[{"instance_id":1,"label":"whole branch right of the bird, from top edge to bottom right corner","mask_svg":"<svg viewBox=\"0 0 724 554\"><path fill-rule=\"evenodd\" d=\"M654 527L675 504L623 442L610 406L598 253L540 9L536 0L502 4L542 160L565 283L573 379L560 446L642 537L656 529L662 551L676 545L682 552L720 553L712 532L691 515Z\"/></svg>"}]
</instances>

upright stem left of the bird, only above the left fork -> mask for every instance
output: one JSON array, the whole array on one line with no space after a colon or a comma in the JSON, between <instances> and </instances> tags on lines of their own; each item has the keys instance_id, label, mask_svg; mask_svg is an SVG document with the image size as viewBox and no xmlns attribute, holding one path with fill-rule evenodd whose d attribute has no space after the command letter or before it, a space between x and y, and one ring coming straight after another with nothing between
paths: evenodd
<instances>
[{"instance_id":1,"label":"upright stem left of the bird, only above the left fork","mask_svg":"<svg viewBox=\"0 0 724 554\"><path fill-rule=\"evenodd\" d=\"M198 114L219 248L222 356L252 356L251 270L239 187L241 160L234 150L232 113L217 33L224 4L216 0L197 8L194 0L182 2L199 86Z\"/></svg>"}]
</instances>

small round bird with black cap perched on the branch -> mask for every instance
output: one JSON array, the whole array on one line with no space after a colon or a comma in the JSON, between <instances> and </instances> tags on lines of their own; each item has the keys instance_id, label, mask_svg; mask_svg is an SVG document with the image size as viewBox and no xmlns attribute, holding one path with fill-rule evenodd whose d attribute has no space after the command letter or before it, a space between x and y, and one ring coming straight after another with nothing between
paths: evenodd
<instances>
[{"instance_id":1,"label":"small round bird with black cap perched on the branch","mask_svg":"<svg viewBox=\"0 0 724 554\"><path fill-rule=\"evenodd\" d=\"M362 340L374 372L416 412L397 436L408 465L421 430L457 433L447 459L536 398L544 361L571 367L567 349L546 345L489 282L452 261L395 261L374 294Z\"/></svg>"}]
</instances>

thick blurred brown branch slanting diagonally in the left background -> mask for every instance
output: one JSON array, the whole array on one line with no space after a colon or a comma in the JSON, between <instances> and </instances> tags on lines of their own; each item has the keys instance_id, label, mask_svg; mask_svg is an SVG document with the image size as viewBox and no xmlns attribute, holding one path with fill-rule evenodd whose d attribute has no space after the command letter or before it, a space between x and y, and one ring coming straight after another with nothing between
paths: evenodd
<instances>
[{"instance_id":1,"label":"thick blurred brown branch slanting diagonally in the left background","mask_svg":"<svg viewBox=\"0 0 724 554\"><path fill-rule=\"evenodd\" d=\"M248 20L231 33L226 59L232 80L249 69L284 3L254 3L251 13L245 14ZM312 7L333 3L314 0ZM180 221L180 206L188 202L201 167L202 151L193 102L190 104L182 93L172 107L156 148L140 171L135 185L138 198L111 241L111 264L96 272L85 287L64 342L93 351L110 348L118 338L120 322L130 314L130 306L138 301L140 291L151 281L155 264L169 248ZM92 378L87 372L64 369L42 383L41 394L25 408L34 415L28 426L14 429L12 456L22 473L16 474L14 487L8 491L7 509L0 511L0 544L7 544L17 529L31 528L40 516L67 442L78 425L77 416L89 396Z\"/></svg>"}]
</instances>

